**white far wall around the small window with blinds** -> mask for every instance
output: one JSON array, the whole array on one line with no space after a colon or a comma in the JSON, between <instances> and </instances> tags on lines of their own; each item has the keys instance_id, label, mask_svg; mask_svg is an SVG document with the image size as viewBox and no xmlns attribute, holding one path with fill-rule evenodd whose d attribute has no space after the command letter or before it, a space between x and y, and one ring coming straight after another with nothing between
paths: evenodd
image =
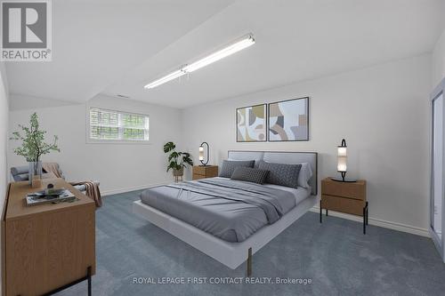
<instances>
[{"instance_id":1,"label":"white far wall around the small window with blinds","mask_svg":"<svg viewBox=\"0 0 445 296\"><path fill-rule=\"evenodd\" d=\"M24 100L12 95L11 100ZM28 98L28 100L37 100ZM52 103L53 104L53 103ZM26 104L14 102L10 116L10 132L17 124L27 124L32 112L37 112L40 123L48 133L59 136L61 153L51 153L44 161L61 164L67 180L99 180L102 193L129 191L172 180L166 173L166 156L162 150L168 140L180 139L181 111L174 108L150 105L134 100L97 96L88 102L100 108L117 109L150 116L150 144L87 144L85 138L85 104L23 109ZM36 106L34 103L31 106ZM13 154L18 143L10 142L10 166L23 165L25 159Z\"/></svg>"}]
</instances>

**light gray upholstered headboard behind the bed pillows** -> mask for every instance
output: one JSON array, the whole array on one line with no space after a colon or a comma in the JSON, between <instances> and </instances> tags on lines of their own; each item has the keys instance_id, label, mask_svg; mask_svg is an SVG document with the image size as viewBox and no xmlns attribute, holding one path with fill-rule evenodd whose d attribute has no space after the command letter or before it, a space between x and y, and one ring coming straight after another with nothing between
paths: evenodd
<instances>
[{"instance_id":1,"label":"light gray upholstered headboard behind the bed pillows","mask_svg":"<svg viewBox=\"0 0 445 296\"><path fill-rule=\"evenodd\" d=\"M229 150L228 158L235 160L255 160L255 165L259 160L278 164L302 164L308 163L312 168L312 178L309 184L312 187L312 196L316 196L318 192L317 179L317 152L273 152L273 151L239 151Z\"/></svg>"}]
</instances>

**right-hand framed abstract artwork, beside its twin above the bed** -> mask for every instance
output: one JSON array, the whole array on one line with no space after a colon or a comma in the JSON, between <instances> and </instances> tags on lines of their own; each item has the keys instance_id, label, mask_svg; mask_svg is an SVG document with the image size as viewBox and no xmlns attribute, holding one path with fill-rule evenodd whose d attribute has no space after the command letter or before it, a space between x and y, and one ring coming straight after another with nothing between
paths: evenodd
<instances>
[{"instance_id":1,"label":"right-hand framed abstract artwork, beside its twin above the bed","mask_svg":"<svg viewBox=\"0 0 445 296\"><path fill-rule=\"evenodd\" d=\"M267 109L268 141L309 140L309 97L279 100Z\"/></svg>"}]
</instances>

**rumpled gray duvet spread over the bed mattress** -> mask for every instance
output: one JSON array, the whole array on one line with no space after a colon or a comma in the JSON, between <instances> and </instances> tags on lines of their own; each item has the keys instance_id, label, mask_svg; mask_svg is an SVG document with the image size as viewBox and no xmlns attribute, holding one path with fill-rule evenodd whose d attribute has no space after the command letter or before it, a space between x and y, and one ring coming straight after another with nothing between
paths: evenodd
<instances>
[{"instance_id":1,"label":"rumpled gray duvet spread over the bed mattress","mask_svg":"<svg viewBox=\"0 0 445 296\"><path fill-rule=\"evenodd\" d=\"M285 190L220 178L144 190L143 204L228 242L242 242L295 207Z\"/></svg>"}]
</instances>

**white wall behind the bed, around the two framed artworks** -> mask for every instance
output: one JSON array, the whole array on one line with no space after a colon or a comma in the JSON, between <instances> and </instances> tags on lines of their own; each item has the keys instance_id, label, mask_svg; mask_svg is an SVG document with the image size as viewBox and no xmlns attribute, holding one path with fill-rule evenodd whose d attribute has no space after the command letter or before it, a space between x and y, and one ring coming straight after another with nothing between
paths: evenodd
<instances>
[{"instance_id":1,"label":"white wall behind the bed, around the two framed artworks","mask_svg":"<svg viewBox=\"0 0 445 296\"><path fill-rule=\"evenodd\" d=\"M185 148L198 157L210 144L210 164L228 149L319 152L319 180L335 176L336 146L348 144L348 175L368 180L369 217L428 227L428 94L431 56L291 84L183 111ZM235 109L309 96L305 142L237 143Z\"/></svg>"}]
</instances>

